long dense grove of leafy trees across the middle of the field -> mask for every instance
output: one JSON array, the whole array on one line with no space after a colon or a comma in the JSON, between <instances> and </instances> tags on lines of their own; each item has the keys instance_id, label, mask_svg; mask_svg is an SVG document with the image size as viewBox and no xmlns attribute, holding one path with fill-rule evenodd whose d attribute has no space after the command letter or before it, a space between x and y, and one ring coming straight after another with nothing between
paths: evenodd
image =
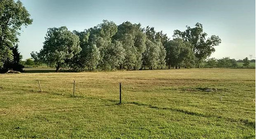
<instances>
[{"instance_id":1,"label":"long dense grove of leafy trees across the middle of the field","mask_svg":"<svg viewBox=\"0 0 256 139\"><path fill-rule=\"evenodd\" d=\"M116 25L103 20L83 32L53 27L47 31L43 48L33 51L31 57L55 66L56 72L60 67L75 71L200 67L221 39L215 35L206 39L200 23L186 27L184 32L176 30L173 40L154 27L142 28L140 23L129 21Z\"/></svg>"}]
</instances>

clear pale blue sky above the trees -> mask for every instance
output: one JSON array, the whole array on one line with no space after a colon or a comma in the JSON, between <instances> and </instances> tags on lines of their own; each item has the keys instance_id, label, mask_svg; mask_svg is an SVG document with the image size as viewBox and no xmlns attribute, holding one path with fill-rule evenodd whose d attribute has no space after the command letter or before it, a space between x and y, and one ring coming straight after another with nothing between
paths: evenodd
<instances>
[{"instance_id":1,"label":"clear pale blue sky above the trees","mask_svg":"<svg viewBox=\"0 0 256 139\"><path fill-rule=\"evenodd\" d=\"M255 57L255 0L21 0L33 18L23 27L19 50L24 59L39 51L49 27L67 26L83 31L102 22L124 21L150 25L172 38L174 30L203 24L204 32L218 35L222 43L211 57Z\"/></svg>"}]
</instances>

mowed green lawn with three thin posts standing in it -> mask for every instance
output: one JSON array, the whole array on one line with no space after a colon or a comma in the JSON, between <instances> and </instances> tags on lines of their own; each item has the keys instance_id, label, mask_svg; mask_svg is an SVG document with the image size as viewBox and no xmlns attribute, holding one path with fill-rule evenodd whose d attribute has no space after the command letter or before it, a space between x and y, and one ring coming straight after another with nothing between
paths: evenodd
<instances>
[{"instance_id":1,"label":"mowed green lawn with three thin posts standing in it","mask_svg":"<svg viewBox=\"0 0 256 139\"><path fill-rule=\"evenodd\" d=\"M255 69L0 74L0 138L255 138Z\"/></svg>"}]
</instances>

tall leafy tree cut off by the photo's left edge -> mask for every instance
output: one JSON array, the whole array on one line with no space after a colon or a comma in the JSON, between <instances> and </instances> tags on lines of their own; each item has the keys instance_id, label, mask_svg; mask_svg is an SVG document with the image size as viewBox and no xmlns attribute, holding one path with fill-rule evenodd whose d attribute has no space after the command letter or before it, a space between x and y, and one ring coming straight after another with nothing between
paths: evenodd
<instances>
[{"instance_id":1,"label":"tall leafy tree cut off by the photo's left edge","mask_svg":"<svg viewBox=\"0 0 256 139\"><path fill-rule=\"evenodd\" d=\"M18 32L23 25L32 24L30 14L20 1L0 1L0 70L6 62L12 62L12 48L18 42ZM8 64L7 64L8 65ZM4 67L8 69L10 67Z\"/></svg>"}]
</instances>

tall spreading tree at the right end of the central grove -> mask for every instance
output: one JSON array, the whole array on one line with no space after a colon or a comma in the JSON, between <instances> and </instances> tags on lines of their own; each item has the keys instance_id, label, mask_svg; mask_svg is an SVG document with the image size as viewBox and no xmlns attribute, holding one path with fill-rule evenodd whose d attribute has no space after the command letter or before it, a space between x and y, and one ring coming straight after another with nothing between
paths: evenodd
<instances>
[{"instance_id":1,"label":"tall spreading tree at the right end of the central grove","mask_svg":"<svg viewBox=\"0 0 256 139\"><path fill-rule=\"evenodd\" d=\"M203 25L196 23L196 27L191 28L186 26L187 30L181 32L179 30L174 31L174 38L181 38L185 42L193 44L193 51L195 53L196 62L198 68L203 60L208 58L212 52L215 52L214 46L218 46L221 43L219 36L212 35L206 39L207 34L203 32Z\"/></svg>"}]
</instances>

